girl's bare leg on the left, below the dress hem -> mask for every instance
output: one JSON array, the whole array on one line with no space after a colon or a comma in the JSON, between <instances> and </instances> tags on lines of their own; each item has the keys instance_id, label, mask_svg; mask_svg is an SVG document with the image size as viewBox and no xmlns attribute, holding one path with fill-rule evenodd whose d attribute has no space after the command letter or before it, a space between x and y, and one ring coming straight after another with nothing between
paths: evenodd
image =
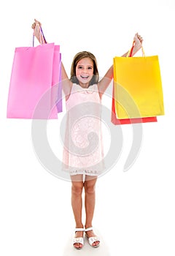
<instances>
[{"instance_id":1,"label":"girl's bare leg on the left, below the dress hem","mask_svg":"<svg viewBox=\"0 0 175 256\"><path fill-rule=\"evenodd\" d=\"M74 212L74 219L76 227L83 227L82 225L82 189L83 179L82 175L71 176L71 206ZM75 233L75 237L82 237L83 232L78 231ZM76 248L81 248L82 244L74 244Z\"/></svg>"}]
</instances>

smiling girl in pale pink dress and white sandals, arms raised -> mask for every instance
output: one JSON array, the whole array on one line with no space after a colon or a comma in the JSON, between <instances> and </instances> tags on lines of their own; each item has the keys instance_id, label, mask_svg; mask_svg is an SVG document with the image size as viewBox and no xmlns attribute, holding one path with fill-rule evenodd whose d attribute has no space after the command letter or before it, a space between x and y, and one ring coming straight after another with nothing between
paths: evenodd
<instances>
[{"instance_id":1,"label":"smiling girl in pale pink dress and white sandals, arms raised","mask_svg":"<svg viewBox=\"0 0 175 256\"><path fill-rule=\"evenodd\" d=\"M42 24L35 20L32 24L34 35L39 40ZM134 55L142 47L142 37L134 36ZM123 57L127 56L125 53ZM90 246L97 247L100 239L93 231L93 214L95 208L95 187L98 175L104 167L101 138L101 97L113 78L113 66L104 78L98 80L96 57L82 51L74 56L71 64L71 78L61 63L61 79L63 92L66 96L67 128L63 163L71 175L71 206L75 219L75 236L73 245L82 249L84 233ZM91 108L92 106L92 108ZM94 116L96 118L94 118ZM91 137L90 137L91 136ZM85 226L82 223L82 190L85 189Z\"/></svg>"}]
</instances>

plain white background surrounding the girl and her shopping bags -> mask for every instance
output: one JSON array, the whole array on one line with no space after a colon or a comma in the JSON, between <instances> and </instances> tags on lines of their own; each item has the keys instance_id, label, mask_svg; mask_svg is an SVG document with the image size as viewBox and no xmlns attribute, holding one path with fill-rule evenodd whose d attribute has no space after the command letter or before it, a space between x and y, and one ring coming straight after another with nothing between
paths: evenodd
<instances>
[{"instance_id":1,"label":"plain white background surrounding the girl and her shopping bags","mask_svg":"<svg viewBox=\"0 0 175 256\"><path fill-rule=\"evenodd\" d=\"M90 50L103 76L112 58L131 47L136 32L144 37L146 55L160 59L166 115L143 124L141 151L128 172L123 165L132 132L122 127L120 159L96 186L98 249L73 248L71 183L52 176L36 158L31 120L6 118L14 50L31 45L34 18L42 22L47 41L61 45L68 74L74 55ZM174 0L1 1L0 20L0 255L174 256ZM53 151L57 127L56 121L48 126Z\"/></svg>"}]
</instances>

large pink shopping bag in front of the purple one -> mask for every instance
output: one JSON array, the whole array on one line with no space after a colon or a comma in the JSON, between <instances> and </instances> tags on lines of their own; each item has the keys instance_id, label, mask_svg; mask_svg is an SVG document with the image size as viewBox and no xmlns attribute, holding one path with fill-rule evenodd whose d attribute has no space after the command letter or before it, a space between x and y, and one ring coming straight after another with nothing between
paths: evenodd
<instances>
[{"instance_id":1,"label":"large pink shopping bag in front of the purple one","mask_svg":"<svg viewBox=\"0 0 175 256\"><path fill-rule=\"evenodd\" d=\"M58 118L54 102L58 90L52 90L52 86L58 83L59 69L59 45L47 43L15 48L7 118Z\"/></svg>"}]
</instances>

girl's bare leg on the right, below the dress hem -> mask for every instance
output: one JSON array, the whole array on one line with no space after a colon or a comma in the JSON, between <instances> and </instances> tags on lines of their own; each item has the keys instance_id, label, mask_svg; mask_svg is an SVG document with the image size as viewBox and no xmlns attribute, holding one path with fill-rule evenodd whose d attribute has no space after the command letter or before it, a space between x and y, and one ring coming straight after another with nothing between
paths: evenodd
<instances>
[{"instance_id":1,"label":"girl's bare leg on the right, below the dress hem","mask_svg":"<svg viewBox=\"0 0 175 256\"><path fill-rule=\"evenodd\" d=\"M97 177L86 176L85 177L85 212L86 212L86 222L85 228L93 226L93 214L96 204L96 181ZM88 237L96 236L93 230L87 232ZM99 241L93 243L93 246L99 244Z\"/></svg>"}]
</instances>

